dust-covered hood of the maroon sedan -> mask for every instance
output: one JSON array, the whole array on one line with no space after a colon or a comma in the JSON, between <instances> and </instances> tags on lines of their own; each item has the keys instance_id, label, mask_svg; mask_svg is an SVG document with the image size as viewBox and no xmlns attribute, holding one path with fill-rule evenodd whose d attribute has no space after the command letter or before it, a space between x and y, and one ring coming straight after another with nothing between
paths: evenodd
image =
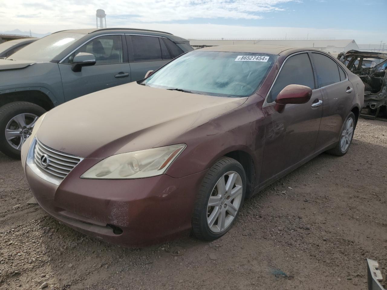
<instances>
[{"instance_id":1,"label":"dust-covered hood of the maroon sedan","mask_svg":"<svg viewBox=\"0 0 387 290\"><path fill-rule=\"evenodd\" d=\"M46 146L80 157L162 146L243 104L244 98L156 89L136 82L66 102L46 114L37 138ZM166 145L166 144L164 144Z\"/></svg>"}]
</instances>

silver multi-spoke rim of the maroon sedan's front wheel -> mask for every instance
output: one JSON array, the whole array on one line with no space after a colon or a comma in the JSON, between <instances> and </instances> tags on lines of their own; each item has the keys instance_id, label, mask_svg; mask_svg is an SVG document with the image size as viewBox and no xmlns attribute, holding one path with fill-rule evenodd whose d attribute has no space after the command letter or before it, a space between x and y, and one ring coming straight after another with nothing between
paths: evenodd
<instances>
[{"instance_id":1,"label":"silver multi-spoke rim of the maroon sedan's front wheel","mask_svg":"<svg viewBox=\"0 0 387 290\"><path fill-rule=\"evenodd\" d=\"M215 184L207 203L207 225L211 232L219 234L233 222L241 205L243 183L241 176L229 171Z\"/></svg>"}]
</instances>

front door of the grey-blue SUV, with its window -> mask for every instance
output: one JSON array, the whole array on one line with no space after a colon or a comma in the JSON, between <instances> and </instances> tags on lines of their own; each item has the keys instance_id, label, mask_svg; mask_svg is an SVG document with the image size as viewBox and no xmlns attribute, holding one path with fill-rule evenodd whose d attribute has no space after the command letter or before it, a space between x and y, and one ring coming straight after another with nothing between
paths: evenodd
<instances>
[{"instance_id":1,"label":"front door of the grey-blue SUV, with its window","mask_svg":"<svg viewBox=\"0 0 387 290\"><path fill-rule=\"evenodd\" d=\"M80 52L93 54L96 64L83 67L80 72L73 72L72 60ZM130 82L124 35L112 34L91 39L59 63L59 70L66 101Z\"/></svg>"}]
</instances>

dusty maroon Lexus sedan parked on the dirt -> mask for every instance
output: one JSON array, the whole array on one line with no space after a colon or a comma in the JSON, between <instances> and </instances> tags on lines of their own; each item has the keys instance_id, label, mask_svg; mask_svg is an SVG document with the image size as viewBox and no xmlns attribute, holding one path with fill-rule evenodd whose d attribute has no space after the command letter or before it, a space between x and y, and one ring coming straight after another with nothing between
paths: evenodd
<instances>
[{"instance_id":1,"label":"dusty maroon Lexus sedan parked on the dirt","mask_svg":"<svg viewBox=\"0 0 387 290\"><path fill-rule=\"evenodd\" d=\"M22 163L39 205L80 232L123 246L190 229L213 240L245 198L324 151L346 154L363 94L319 50L198 49L41 116Z\"/></svg>"}]
</instances>

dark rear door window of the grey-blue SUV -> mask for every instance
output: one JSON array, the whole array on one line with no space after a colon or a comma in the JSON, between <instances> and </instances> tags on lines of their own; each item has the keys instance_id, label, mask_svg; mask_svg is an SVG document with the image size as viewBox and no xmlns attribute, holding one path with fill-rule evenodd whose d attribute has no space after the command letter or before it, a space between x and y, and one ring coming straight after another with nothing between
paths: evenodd
<instances>
[{"instance_id":1,"label":"dark rear door window of the grey-blue SUV","mask_svg":"<svg viewBox=\"0 0 387 290\"><path fill-rule=\"evenodd\" d=\"M158 37L132 35L134 61L162 60Z\"/></svg>"}]
</instances>

